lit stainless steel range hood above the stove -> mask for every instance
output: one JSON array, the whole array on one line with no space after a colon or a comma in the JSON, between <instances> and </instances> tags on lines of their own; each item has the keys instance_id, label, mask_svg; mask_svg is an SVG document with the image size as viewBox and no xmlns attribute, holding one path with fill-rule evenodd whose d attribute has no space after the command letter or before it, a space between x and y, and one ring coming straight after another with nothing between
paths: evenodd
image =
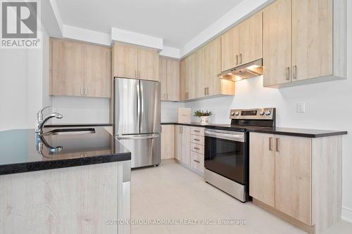
<instances>
[{"instance_id":1,"label":"lit stainless steel range hood above the stove","mask_svg":"<svg viewBox=\"0 0 352 234\"><path fill-rule=\"evenodd\" d=\"M252 77L258 77L263 74L263 59L255 60L251 63L239 65L218 74L221 79L230 79L234 82L238 82L241 79L248 79Z\"/></svg>"}]
</instances>

